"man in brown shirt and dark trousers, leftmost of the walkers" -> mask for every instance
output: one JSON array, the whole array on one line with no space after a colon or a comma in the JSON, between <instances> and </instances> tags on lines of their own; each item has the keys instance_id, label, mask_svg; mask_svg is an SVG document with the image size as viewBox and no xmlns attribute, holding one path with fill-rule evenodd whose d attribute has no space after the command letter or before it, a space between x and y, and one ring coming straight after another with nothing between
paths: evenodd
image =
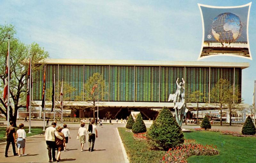
<instances>
[{"instance_id":1,"label":"man in brown shirt and dark trousers, leftmost of the walkers","mask_svg":"<svg viewBox=\"0 0 256 163\"><path fill-rule=\"evenodd\" d=\"M5 130L5 136L6 136L6 147L5 147L5 157L8 157L8 149L10 144L12 143L12 152L13 155L16 156L18 155L18 153L16 153L16 149L15 149L15 128L13 127L13 122L10 121L10 126L6 128Z\"/></svg>"}]
</instances>

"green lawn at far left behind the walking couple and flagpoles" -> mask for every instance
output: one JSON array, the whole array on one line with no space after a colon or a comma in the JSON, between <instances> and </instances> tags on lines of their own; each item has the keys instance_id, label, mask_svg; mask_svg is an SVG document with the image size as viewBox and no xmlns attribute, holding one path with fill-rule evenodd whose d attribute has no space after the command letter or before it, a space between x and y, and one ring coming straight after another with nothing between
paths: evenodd
<instances>
[{"instance_id":1,"label":"green lawn at far left behind the walking couple and flagpoles","mask_svg":"<svg viewBox=\"0 0 256 163\"><path fill-rule=\"evenodd\" d=\"M5 129L6 127L0 127L0 142L5 142L6 138L5 138ZM17 131L19 128L16 128L15 130ZM28 127L26 126L25 128L26 131L26 136L33 136L33 135L37 135L37 134L43 134L43 127L31 127L31 134L28 134Z\"/></svg>"}]
</instances>

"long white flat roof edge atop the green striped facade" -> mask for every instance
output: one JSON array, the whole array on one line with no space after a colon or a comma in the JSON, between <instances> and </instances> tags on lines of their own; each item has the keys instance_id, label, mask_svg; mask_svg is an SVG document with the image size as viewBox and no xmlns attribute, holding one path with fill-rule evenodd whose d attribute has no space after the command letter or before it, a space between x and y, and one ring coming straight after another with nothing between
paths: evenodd
<instances>
[{"instance_id":1,"label":"long white flat roof edge atop the green striped facade","mask_svg":"<svg viewBox=\"0 0 256 163\"><path fill-rule=\"evenodd\" d=\"M250 66L248 62L202 62L202 61L147 61L147 60L95 60L95 59L51 59L46 64L68 65L122 65L122 66L175 66L175 67L236 67L245 69Z\"/></svg>"}]
</instances>

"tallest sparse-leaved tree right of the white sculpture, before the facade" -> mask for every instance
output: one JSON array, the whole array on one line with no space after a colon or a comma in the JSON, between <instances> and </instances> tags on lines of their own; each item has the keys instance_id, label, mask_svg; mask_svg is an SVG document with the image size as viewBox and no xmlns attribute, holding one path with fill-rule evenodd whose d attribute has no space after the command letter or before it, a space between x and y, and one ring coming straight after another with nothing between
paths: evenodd
<instances>
[{"instance_id":1,"label":"tallest sparse-leaved tree right of the white sculpture, before the facade","mask_svg":"<svg viewBox=\"0 0 256 163\"><path fill-rule=\"evenodd\" d=\"M228 97L228 89L230 89L230 82L226 79L220 79L210 92L211 103L220 110L220 126L222 126L222 109L225 108Z\"/></svg>"}]
</instances>

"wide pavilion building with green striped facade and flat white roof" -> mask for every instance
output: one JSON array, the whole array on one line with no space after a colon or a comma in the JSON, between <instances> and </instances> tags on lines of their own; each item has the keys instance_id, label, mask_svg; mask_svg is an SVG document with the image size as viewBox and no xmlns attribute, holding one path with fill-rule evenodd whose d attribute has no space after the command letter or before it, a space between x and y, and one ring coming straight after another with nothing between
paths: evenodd
<instances>
[{"instance_id":1,"label":"wide pavilion building with green striped facade and flat white roof","mask_svg":"<svg viewBox=\"0 0 256 163\"><path fill-rule=\"evenodd\" d=\"M242 70L247 67L249 63L47 59L46 88L52 87L55 71L56 87L63 77L76 88L69 94L73 101L69 105L85 106L84 83L93 73L99 72L107 86L107 95L102 97L104 102L99 106L101 109L172 108L173 103L167 100L177 89L177 78L185 80L186 97L188 92L199 90L203 93L200 102L205 103L209 102L210 90L220 78L234 85L234 93L241 92ZM43 70L33 73L32 100L37 105L41 105L42 80ZM56 95L59 94L56 88ZM51 101L47 103L51 105Z\"/></svg>"}]
</instances>

